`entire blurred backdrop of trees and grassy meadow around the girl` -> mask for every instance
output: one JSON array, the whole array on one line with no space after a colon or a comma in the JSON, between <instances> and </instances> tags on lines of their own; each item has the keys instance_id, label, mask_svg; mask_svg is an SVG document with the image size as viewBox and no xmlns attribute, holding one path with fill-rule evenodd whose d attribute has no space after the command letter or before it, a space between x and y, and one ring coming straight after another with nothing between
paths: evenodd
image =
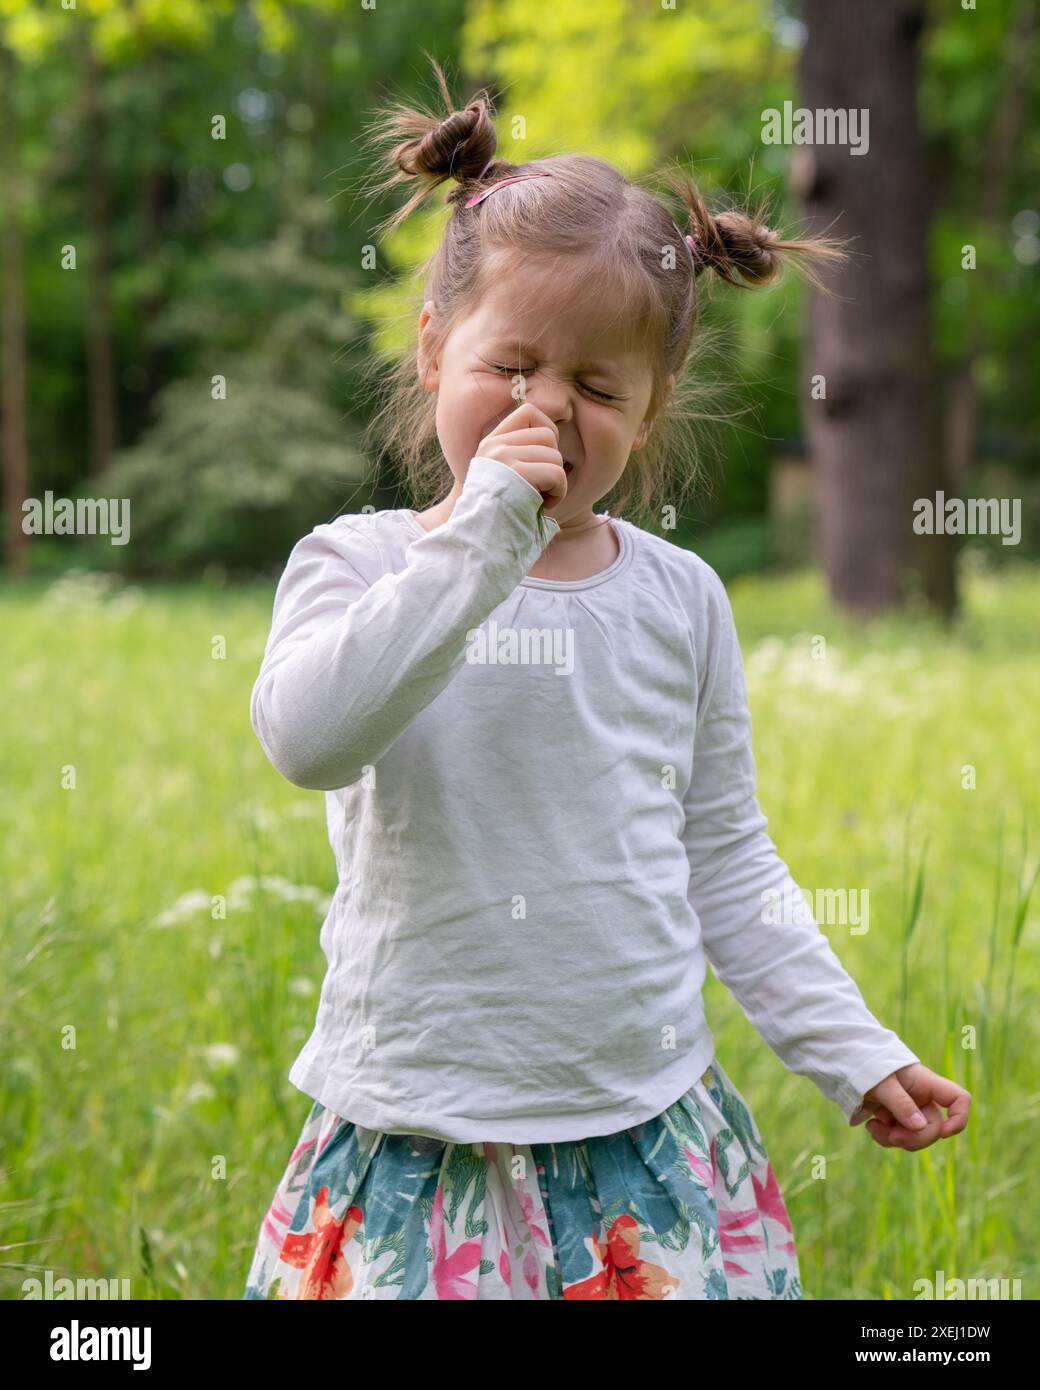
<instances>
[{"instance_id":1,"label":"entire blurred backdrop of trees and grassy meadow around the girl","mask_svg":"<svg viewBox=\"0 0 1040 1390\"><path fill-rule=\"evenodd\" d=\"M936 1269L1034 1295L1030 0L0 0L0 1293L239 1298L309 1108L335 867L249 694L292 545L412 503L363 449L367 368L410 350L448 210L377 242L359 136L434 100L427 53L456 104L489 89L512 160L683 164L854 238L830 299L709 295L741 413L670 539L733 596L773 838L805 891L869 891L869 933L822 926L969 1127L881 1151L710 976L708 1015L808 1297ZM765 143L786 101L869 107L869 153ZM129 498L131 542L26 535L49 491ZM1019 499L1019 543L915 535L936 491Z\"/></svg>"}]
</instances>

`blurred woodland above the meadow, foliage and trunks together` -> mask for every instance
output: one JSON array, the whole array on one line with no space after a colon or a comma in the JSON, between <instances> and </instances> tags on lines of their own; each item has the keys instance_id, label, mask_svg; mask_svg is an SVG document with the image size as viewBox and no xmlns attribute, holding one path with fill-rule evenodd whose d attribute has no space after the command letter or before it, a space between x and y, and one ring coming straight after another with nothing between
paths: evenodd
<instances>
[{"instance_id":1,"label":"blurred woodland above the meadow, foliage and trunks together","mask_svg":"<svg viewBox=\"0 0 1040 1390\"><path fill-rule=\"evenodd\" d=\"M489 88L513 161L681 163L716 202L767 195L783 225L852 238L826 324L793 279L709 296L741 413L677 539L724 578L820 559L837 598L884 607L909 567L948 607L954 548L902 553L911 485L1021 498L1018 546L955 549L1034 553L1036 7L868 10L863 28L826 0L560 0L531 25L516 0L4 0L8 573L277 573L311 525L409 505L361 452L363 364L409 350L407 277L448 210L434 195L382 246L388 206L356 193L371 110L434 95L423 50L459 106ZM763 143L786 100L869 107L869 152ZM131 543L29 542L21 500L47 489L129 498Z\"/></svg>"}]
</instances>

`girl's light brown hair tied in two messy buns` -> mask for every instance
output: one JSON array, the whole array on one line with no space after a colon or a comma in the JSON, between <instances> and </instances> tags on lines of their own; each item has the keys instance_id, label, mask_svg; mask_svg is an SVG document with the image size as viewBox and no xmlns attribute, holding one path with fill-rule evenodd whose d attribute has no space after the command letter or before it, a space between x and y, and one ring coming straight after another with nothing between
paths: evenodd
<instances>
[{"instance_id":1,"label":"girl's light brown hair tied in two messy buns","mask_svg":"<svg viewBox=\"0 0 1040 1390\"><path fill-rule=\"evenodd\" d=\"M421 299L432 300L437 309L432 354L480 302L495 257L507 253L510 265L551 260L571 286L562 296L567 307L585 295L595 296L601 306L616 303L626 329L645 348L652 366L648 411L653 430L602 500L609 503L612 514L630 513L640 521L655 517L662 498L681 509L688 488L701 474L701 450L687 431L698 421L722 418L704 409L710 386L684 371L695 346L699 277L712 271L747 289L772 284L780 277L784 260L793 260L818 284L806 259L843 259L841 243L827 238L784 240L765 225L765 206L754 214L712 213L695 183L673 171L665 182L685 207L695 245L691 252L660 199L605 160L556 154L512 164L498 158L487 90L478 92L462 111L453 110L441 67L434 58L430 61L448 115L395 103L377 117L368 133L373 143L391 146L392 165L392 172L373 185L373 193L417 182L407 202L377 225L377 234L395 231L438 185L455 179L445 199L453 211L444 238L419 270ZM385 163L384 156L384 167ZM463 206L499 179L537 171L552 178L514 183L471 208ZM595 228L595 235L590 235L590 228ZM368 427L368 438L378 436L381 446L400 461L403 480L421 510L444 498L453 482L437 438L437 402L419 379L413 352L389 371L384 361L375 363L373 375L377 374L385 399ZM676 388L665 406L670 374L676 377Z\"/></svg>"}]
</instances>

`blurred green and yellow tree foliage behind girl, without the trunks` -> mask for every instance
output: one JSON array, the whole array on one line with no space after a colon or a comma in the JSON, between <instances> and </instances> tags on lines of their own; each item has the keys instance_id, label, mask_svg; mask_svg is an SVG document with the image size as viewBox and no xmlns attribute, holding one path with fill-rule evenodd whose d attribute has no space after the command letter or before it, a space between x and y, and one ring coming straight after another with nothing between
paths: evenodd
<instances>
[{"instance_id":1,"label":"blurred green and yellow tree foliage behind girl, without the trunks","mask_svg":"<svg viewBox=\"0 0 1040 1390\"><path fill-rule=\"evenodd\" d=\"M980 200L1021 3L932 6L920 100L948 392L976 335L983 452L1036 475L1034 54L1007 197L996 218ZM432 96L424 51L459 100L489 86L510 158L584 150L640 179L683 164L716 206L767 193L774 221L797 231L791 150L763 145L761 131L766 107L798 99L798 15L797 0L556 0L537 18L527 0L0 0L19 149L18 186L6 174L0 200L17 204L24 242L32 495L99 491L85 481L95 168L110 185L117 406L104 489L133 489L143 542L121 559L177 573L277 567L293 531L407 500L381 488L381 460L356 453L374 404L361 367L409 350L410 272L446 208L434 197L377 243L387 206L366 200L359 136L387 100ZM88 53L100 64L100 145L83 118ZM961 268L965 243L977 247L975 272ZM61 267L68 245L75 270ZM685 538L705 549L706 525L722 541L733 527L729 573L769 559L770 466L802 448L801 293L788 281L705 295L717 348L706 371L731 417L705 439L715 485ZM213 399L213 377L227 399Z\"/></svg>"}]
</instances>

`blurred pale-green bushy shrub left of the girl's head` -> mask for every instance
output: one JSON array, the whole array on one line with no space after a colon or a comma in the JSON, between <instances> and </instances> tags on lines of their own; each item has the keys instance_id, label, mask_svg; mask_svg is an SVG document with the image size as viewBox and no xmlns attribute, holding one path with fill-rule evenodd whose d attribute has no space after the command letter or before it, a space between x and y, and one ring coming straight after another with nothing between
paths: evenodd
<instances>
[{"instance_id":1,"label":"blurred pale-green bushy shrub left of the girl's head","mask_svg":"<svg viewBox=\"0 0 1040 1390\"><path fill-rule=\"evenodd\" d=\"M299 211L332 215L318 200ZM131 500L133 545L118 559L139 573L263 567L357 505L367 464L334 406L356 325L341 272L306 252L309 229L295 218L270 242L192 261L156 321L174 353L195 345L197 370L161 389L154 424L106 475Z\"/></svg>"}]
</instances>

